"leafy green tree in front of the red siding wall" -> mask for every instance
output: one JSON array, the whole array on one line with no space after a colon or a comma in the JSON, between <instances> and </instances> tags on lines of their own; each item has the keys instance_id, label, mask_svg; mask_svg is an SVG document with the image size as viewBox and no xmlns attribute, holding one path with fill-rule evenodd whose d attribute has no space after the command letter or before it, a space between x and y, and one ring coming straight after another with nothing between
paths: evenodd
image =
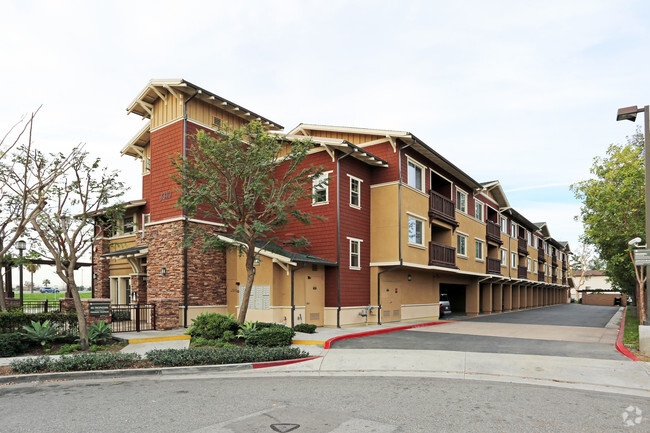
<instances>
[{"instance_id":1,"label":"leafy green tree in front of the red siding wall","mask_svg":"<svg viewBox=\"0 0 650 433\"><path fill-rule=\"evenodd\" d=\"M192 137L188 157L177 158L174 180L181 186L178 205L188 216L216 218L227 227L246 260L246 288L239 323L246 321L255 279L256 248L274 240L274 231L294 219L309 224L314 215L296 208L312 198L312 178L322 169L303 164L310 141L288 142L254 121L240 129L228 126L215 133L199 131ZM318 177L316 177L318 178ZM227 248L218 234L196 229L205 248ZM298 245L304 238L294 239ZM188 242L189 244L189 242Z\"/></svg>"}]
</instances>

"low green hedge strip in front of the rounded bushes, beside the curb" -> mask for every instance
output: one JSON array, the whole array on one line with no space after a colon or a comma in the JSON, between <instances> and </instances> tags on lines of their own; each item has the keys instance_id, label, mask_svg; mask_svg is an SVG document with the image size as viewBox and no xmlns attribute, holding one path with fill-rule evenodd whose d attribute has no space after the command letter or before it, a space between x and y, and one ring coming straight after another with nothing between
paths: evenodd
<instances>
[{"instance_id":1,"label":"low green hedge strip in front of the rounded bushes, beside the curb","mask_svg":"<svg viewBox=\"0 0 650 433\"><path fill-rule=\"evenodd\" d=\"M297 347L224 347L220 349L157 349L146 357L160 367L241 364L307 358Z\"/></svg>"}]
</instances>

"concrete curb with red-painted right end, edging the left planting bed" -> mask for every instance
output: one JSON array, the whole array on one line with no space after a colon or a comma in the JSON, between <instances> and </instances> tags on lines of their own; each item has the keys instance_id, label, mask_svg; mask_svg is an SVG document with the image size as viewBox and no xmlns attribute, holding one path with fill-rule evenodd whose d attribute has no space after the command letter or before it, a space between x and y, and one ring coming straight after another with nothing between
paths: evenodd
<instances>
[{"instance_id":1,"label":"concrete curb with red-painted right end, edging the left planting bed","mask_svg":"<svg viewBox=\"0 0 650 433\"><path fill-rule=\"evenodd\" d=\"M221 373L266 367L278 367L282 365L311 361L318 358L321 357L311 356L309 358L285 359L281 361L246 362L242 364L192 365L187 367L130 368L124 370L66 371L56 373L17 374L13 376L0 376L0 385L60 380L112 379L120 377L175 376L197 373Z\"/></svg>"}]
</instances>

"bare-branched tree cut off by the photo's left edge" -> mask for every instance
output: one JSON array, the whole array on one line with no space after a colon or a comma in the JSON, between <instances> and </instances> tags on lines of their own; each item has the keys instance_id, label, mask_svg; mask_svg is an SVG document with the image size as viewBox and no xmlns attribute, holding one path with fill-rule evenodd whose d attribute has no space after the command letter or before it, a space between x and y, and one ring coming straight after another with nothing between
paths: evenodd
<instances>
[{"instance_id":1,"label":"bare-branched tree cut off by the photo's left edge","mask_svg":"<svg viewBox=\"0 0 650 433\"><path fill-rule=\"evenodd\" d=\"M0 141L0 258L47 203L48 190L65 173L79 149L46 157L34 149L34 118L40 107L24 116ZM6 311L5 291L0 280L0 310Z\"/></svg>"}]
</instances>

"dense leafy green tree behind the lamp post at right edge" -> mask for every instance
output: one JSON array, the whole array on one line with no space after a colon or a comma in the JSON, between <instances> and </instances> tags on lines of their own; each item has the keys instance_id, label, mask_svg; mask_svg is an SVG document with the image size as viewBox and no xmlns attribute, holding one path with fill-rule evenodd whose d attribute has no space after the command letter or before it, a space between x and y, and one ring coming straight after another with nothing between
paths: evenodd
<instances>
[{"instance_id":1,"label":"dense leafy green tree behind the lamp post at right edge","mask_svg":"<svg viewBox=\"0 0 650 433\"><path fill-rule=\"evenodd\" d=\"M582 240L606 263L612 286L628 294L638 281L627 243L637 236L646 239L643 144L637 132L625 145L610 145L604 158L594 158L594 177L571 185L582 202L576 217L584 226Z\"/></svg>"}]
</instances>

